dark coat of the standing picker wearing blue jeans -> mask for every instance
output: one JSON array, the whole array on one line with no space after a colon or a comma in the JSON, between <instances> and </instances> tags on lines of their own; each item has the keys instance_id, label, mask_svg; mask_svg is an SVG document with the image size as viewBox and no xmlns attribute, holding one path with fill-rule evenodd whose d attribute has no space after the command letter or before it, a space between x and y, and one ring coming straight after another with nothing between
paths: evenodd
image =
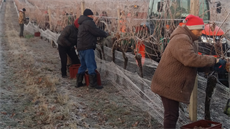
<instances>
[{"instance_id":1,"label":"dark coat of the standing picker wearing blue jeans","mask_svg":"<svg viewBox=\"0 0 230 129\"><path fill-rule=\"evenodd\" d=\"M82 15L80 16L78 23L80 24L78 28L78 51L95 49L97 44L97 37L108 36L105 31L97 28L92 18Z\"/></svg>"}]
</instances>

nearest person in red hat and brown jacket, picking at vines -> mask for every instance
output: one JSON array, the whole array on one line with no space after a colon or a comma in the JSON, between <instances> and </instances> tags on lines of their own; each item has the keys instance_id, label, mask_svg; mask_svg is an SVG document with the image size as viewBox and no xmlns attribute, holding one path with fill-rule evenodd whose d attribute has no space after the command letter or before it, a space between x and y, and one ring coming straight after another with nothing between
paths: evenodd
<instances>
[{"instance_id":1,"label":"nearest person in red hat and brown jacket, picking at vines","mask_svg":"<svg viewBox=\"0 0 230 129\"><path fill-rule=\"evenodd\" d=\"M164 107L164 129L175 129L179 117L179 102L189 104L197 68L224 69L226 61L197 54L194 43L202 35L203 19L188 15L185 25L178 26L170 36L159 65L153 75L151 90L158 94Z\"/></svg>"}]
</instances>

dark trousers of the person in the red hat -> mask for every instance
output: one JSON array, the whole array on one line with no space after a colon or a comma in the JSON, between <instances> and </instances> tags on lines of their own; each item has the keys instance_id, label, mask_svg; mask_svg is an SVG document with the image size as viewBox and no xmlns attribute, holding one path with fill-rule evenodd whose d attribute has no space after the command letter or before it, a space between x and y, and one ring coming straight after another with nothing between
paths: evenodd
<instances>
[{"instance_id":1,"label":"dark trousers of the person in the red hat","mask_svg":"<svg viewBox=\"0 0 230 129\"><path fill-rule=\"evenodd\" d=\"M164 129L176 129L179 117L179 102L162 97L164 106Z\"/></svg>"}]
</instances>

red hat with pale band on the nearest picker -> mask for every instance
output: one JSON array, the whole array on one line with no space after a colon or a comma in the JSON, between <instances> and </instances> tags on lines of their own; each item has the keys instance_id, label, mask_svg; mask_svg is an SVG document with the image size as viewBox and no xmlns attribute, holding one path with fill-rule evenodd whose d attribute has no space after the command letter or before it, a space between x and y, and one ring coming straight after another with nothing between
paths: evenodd
<instances>
[{"instance_id":1,"label":"red hat with pale band on the nearest picker","mask_svg":"<svg viewBox=\"0 0 230 129\"><path fill-rule=\"evenodd\" d=\"M194 15L188 15L185 18L185 25L189 30L203 30L204 29L204 21L202 18Z\"/></svg>"}]
</instances>

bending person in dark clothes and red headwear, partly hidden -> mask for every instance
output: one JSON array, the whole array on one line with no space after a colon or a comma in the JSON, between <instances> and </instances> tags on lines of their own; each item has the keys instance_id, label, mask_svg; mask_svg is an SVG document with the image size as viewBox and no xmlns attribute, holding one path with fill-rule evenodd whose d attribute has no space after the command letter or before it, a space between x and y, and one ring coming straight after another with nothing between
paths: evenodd
<instances>
[{"instance_id":1,"label":"bending person in dark clothes and red headwear, partly hidden","mask_svg":"<svg viewBox=\"0 0 230 129\"><path fill-rule=\"evenodd\" d=\"M67 78L67 55L70 57L73 64L80 64L74 47L77 45L78 27L78 19L76 19L74 25L66 26L58 37L58 52L61 58L61 74L63 78Z\"/></svg>"}]
</instances>

